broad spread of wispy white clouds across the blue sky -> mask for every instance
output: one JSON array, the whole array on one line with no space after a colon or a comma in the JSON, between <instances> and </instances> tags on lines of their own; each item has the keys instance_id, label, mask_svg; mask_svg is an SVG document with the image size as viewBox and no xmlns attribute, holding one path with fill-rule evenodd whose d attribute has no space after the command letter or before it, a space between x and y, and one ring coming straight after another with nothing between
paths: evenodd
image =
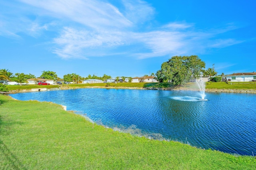
<instances>
[{"instance_id":1,"label":"broad spread of wispy white clouds across the blue sky","mask_svg":"<svg viewBox=\"0 0 256 170\"><path fill-rule=\"evenodd\" d=\"M143 0L122 0L119 2L122 9L106 0L20 2L22 8L4 4L7 10L0 12L0 35L19 38L19 33L25 32L36 37L51 29L55 32L55 37L50 39L54 45L52 52L64 59L116 54L139 59L203 54L208 49L243 42L218 38L219 34L236 29L232 23L201 30L196 28L196 23L170 22L145 31L141 27L154 19L155 9ZM12 11L8 8L17 9L16 15L8 12Z\"/></svg>"}]
</instances>

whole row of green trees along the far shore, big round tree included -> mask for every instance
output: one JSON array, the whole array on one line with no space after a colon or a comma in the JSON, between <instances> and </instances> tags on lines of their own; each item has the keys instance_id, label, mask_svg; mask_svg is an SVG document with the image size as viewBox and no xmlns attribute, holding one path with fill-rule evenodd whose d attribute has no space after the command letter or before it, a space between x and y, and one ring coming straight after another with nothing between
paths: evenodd
<instances>
[{"instance_id":1,"label":"whole row of green trees along the far shore, big round tree included","mask_svg":"<svg viewBox=\"0 0 256 170\"><path fill-rule=\"evenodd\" d=\"M181 85L185 84L186 82L190 82L191 80L195 80L200 76L215 76L217 72L214 68L208 68L204 70L205 62L202 61L197 55L191 56L174 56L171 57L168 61L162 63L161 69L156 72L156 74L152 73L150 76L156 76L158 82L172 82L174 85ZM224 73L221 74L221 76ZM148 76L145 74L144 76ZM12 74L8 69L1 69L0 70L0 80L11 80L18 83L24 83L27 79L36 78L34 74L24 74L24 73L16 73ZM60 80L53 71L42 71L42 75L37 78L45 78L50 80ZM103 76L96 76L96 75L88 75L87 77L82 77L79 74L72 73L72 74L65 74L63 79L65 82L73 82L73 83L80 83L83 80L88 79L98 79L102 81L106 81L108 78L112 78L109 75L104 74ZM131 77L116 77L116 81L119 79L122 81L129 80L132 81Z\"/></svg>"}]
</instances>

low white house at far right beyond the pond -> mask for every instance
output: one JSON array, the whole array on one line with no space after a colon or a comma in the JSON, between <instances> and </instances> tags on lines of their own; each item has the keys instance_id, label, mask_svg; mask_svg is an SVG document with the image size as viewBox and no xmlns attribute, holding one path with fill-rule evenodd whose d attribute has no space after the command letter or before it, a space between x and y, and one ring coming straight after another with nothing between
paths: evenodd
<instances>
[{"instance_id":1,"label":"low white house at far right beyond the pond","mask_svg":"<svg viewBox=\"0 0 256 170\"><path fill-rule=\"evenodd\" d=\"M222 82L250 82L256 81L256 72L233 73L222 76Z\"/></svg>"}]
</instances>

